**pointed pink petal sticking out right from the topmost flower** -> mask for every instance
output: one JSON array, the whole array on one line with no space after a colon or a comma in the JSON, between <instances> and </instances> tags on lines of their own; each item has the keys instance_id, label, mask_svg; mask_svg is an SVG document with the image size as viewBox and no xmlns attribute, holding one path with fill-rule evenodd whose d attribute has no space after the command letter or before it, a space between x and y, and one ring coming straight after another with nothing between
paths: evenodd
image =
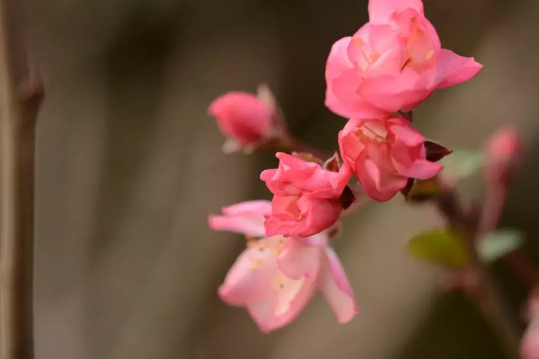
<instances>
[{"instance_id":1,"label":"pointed pink petal sticking out right from the topmost flower","mask_svg":"<svg viewBox=\"0 0 539 359\"><path fill-rule=\"evenodd\" d=\"M441 50L436 73L436 87L446 88L473 78L483 67L473 58L465 58L450 50Z\"/></svg>"}]
</instances>

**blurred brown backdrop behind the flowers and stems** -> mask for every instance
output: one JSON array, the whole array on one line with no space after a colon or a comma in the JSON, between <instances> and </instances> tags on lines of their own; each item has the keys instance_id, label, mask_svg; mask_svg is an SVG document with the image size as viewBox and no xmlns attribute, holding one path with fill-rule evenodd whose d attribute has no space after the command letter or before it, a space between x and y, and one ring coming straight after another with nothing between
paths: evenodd
<instances>
[{"instance_id":1,"label":"blurred brown backdrop behind the flowers and stems","mask_svg":"<svg viewBox=\"0 0 539 359\"><path fill-rule=\"evenodd\" d=\"M443 47L485 68L414 111L427 137L481 146L522 131L526 157L503 225L537 253L539 2L425 0ZM263 335L216 289L244 249L209 213L270 198L273 153L220 152L206 115L229 90L267 82L296 136L335 150L345 120L324 107L331 45L367 21L366 0L26 0L38 122L38 359L501 358L481 316L403 243L439 221L401 198L370 203L335 243L361 313L340 326L322 298ZM480 178L464 193L481 198ZM496 268L515 318L527 291Z\"/></svg>"}]
</instances>

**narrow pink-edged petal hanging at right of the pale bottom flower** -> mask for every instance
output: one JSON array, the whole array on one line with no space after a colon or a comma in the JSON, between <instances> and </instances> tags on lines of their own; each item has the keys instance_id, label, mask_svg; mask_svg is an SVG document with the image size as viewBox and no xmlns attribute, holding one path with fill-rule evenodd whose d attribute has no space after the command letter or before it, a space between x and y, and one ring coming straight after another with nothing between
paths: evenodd
<instances>
[{"instance_id":1,"label":"narrow pink-edged petal hanging at right of the pale bottom flower","mask_svg":"<svg viewBox=\"0 0 539 359\"><path fill-rule=\"evenodd\" d=\"M322 273L321 291L337 321L347 323L359 312L354 292L333 249L327 248L326 258L327 268Z\"/></svg>"}]
</instances>

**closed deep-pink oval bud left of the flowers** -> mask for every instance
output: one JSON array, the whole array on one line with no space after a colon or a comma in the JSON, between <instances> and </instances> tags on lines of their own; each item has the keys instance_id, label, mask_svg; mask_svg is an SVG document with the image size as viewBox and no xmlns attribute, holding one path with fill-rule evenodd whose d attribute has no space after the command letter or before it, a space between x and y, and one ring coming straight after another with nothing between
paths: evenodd
<instances>
[{"instance_id":1,"label":"closed deep-pink oval bud left of the flowers","mask_svg":"<svg viewBox=\"0 0 539 359\"><path fill-rule=\"evenodd\" d=\"M272 136L274 109L253 94L229 92L216 98L208 112L227 137L225 152L256 146Z\"/></svg>"}]
</instances>

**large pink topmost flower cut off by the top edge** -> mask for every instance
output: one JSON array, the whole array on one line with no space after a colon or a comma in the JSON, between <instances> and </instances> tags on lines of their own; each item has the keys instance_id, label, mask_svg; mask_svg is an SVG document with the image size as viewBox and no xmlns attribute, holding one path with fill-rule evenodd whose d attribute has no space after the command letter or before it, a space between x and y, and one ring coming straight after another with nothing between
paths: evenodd
<instances>
[{"instance_id":1,"label":"large pink topmost flower cut off by the top edge","mask_svg":"<svg viewBox=\"0 0 539 359\"><path fill-rule=\"evenodd\" d=\"M326 105L338 115L407 112L435 89L467 81L482 68L441 49L420 0L370 0L369 18L328 57Z\"/></svg>"}]
</instances>

